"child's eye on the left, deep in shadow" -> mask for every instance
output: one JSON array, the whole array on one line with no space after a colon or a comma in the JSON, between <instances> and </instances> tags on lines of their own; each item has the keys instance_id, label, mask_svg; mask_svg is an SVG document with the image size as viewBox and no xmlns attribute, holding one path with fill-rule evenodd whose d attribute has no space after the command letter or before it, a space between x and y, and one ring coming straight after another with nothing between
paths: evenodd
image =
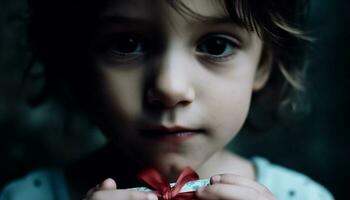
<instances>
[{"instance_id":1,"label":"child's eye on the left, deep in shadow","mask_svg":"<svg viewBox=\"0 0 350 200\"><path fill-rule=\"evenodd\" d=\"M112 35L103 46L104 51L116 59L132 59L145 54L144 40L129 33Z\"/></svg>"}]
</instances>

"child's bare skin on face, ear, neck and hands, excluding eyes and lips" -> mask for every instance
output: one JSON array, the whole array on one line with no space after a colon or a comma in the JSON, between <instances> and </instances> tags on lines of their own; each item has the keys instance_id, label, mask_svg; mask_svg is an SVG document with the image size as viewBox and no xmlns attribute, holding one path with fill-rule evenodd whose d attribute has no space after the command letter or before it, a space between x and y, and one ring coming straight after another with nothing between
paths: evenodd
<instances>
[{"instance_id":1,"label":"child's bare skin on face, ear, neck and hands, excluding eyes and lips","mask_svg":"<svg viewBox=\"0 0 350 200\"><path fill-rule=\"evenodd\" d=\"M218 1L184 2L200 15L227 18ZM121 153L142 159L141 165L156 167L172 182L186 166L211 177L211 185L197 191L199 199L274 199L255 181L252 164L224 149L243 126L252 93L269 77L271 56L263 54L267 50L258 35L232 22L182 16L161 0L111 1L100 17L104 21L91 44L99 50L91 57L99 74L95 92L108 115L99 116L98 124ZM120 54L106 38L125 32L142 35L148 47ZM225 56L207 52L212 37L226 44ZM140 134L154 125L201 132L176 143ZM113 179L106 179L86 199L156 196L117 189Z\"/></svg>"}]
</instances>

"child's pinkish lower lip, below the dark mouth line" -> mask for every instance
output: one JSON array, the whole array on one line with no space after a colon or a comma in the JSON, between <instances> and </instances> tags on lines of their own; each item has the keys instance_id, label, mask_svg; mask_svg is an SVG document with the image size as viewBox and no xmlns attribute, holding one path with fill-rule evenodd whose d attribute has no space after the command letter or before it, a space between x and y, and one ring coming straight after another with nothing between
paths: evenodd
<instances>
[{"instance_id":1,"label":"child's pinkish lower lip, below the dark mouth line","mask_svg":"<svg viewBox=\"0 0 350 200\"><path fill-rule=\"evenodd\" d=\"M164 134L159 134L159 135L152 135L152 136L146 136L152 140L159 140L162 142L167 142L167 143L182 143L185 142L195 135L198 135L199 132L178 132L178 133L164 133Z\"/></svg>"}]
</instances>

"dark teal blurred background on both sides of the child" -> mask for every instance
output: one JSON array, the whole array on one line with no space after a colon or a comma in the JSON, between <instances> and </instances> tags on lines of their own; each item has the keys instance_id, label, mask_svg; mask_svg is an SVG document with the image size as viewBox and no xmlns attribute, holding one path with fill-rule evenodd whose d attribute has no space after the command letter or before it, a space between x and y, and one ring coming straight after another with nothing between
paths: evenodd
<instances>
[{"instance_id":1,"label":"dark teal blurred background on both sides of the child","mask_svg":"<svg viewBox=\"0 0 350 200\"><path fill-rule=\"evenodd\" d=\"M243 131L229 145L245 156L264 156L307 174L336 199L349 199L349 8L346 0L313 0L309 24L317 40L308 71L311 114L267 134ZM54 99L28 106L44 79L38 64L23 80L31 58L27 17L25 0L0 0L0 188L34 168L67 164L105 143L84 117Z\"/></svg>"}]
</instances>

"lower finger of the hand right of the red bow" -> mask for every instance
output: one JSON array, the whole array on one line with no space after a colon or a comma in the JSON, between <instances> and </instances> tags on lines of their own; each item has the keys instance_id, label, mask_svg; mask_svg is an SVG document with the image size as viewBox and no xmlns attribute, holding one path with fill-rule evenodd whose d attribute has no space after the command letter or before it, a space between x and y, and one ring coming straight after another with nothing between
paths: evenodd
<instances>
[{"instance_id":1,"label":"lower finger of the hand right of the red bow","mask_svg":"<svg viewBox=\"0 0 350 200\"><path fill-rule=\"evenodd\" d=\"M202 200L269 200L269 197L251 187L228 184L215 184L197 191Z\"/></svg>"}]
</instances>

